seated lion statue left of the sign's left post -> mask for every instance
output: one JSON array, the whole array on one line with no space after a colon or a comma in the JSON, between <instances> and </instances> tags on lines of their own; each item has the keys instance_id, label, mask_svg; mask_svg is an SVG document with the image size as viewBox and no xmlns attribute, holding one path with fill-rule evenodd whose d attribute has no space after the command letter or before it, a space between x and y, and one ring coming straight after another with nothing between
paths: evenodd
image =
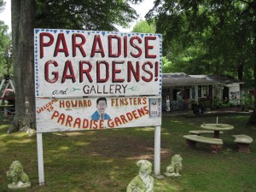
<instances>
[{"instance_id":1,"label":"seated lion statue left of the sign's left post","mask_svg":"<svg viewBox=\"0 0 256 192\"><path fill-rule=\"evenodd\" d=\"M9 172L6 172L7 177L12 183L8 185L9 189L26 189L31 187L29 177L23 171L23 166L20 161L15 160L9 167Z\"/></svg>"}]
</instances>

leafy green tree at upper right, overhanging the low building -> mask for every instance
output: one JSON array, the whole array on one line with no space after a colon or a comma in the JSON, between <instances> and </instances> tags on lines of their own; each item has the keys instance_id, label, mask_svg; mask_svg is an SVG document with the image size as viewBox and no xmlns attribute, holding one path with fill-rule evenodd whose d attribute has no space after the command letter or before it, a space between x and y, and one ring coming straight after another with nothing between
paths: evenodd
<instances>
[{"instance_id":1,"label":"leafy green tree at upper right, overhanging the low building","mask_svg":"<svg viewBox=\"0 0 256 192\"><path fill-rule=\"evenodd\" d=\"M255 0L156 0L147 19L155 20L156 32L163 34L165 54L171 51L174 65L172 53L182 48L183 58L188 58L182 61L184 67L187 62L195 73L236 73L239 79L253 75L256 89ZM251 125L256 125L254 101Z\"/></svg>"}]
</instances>

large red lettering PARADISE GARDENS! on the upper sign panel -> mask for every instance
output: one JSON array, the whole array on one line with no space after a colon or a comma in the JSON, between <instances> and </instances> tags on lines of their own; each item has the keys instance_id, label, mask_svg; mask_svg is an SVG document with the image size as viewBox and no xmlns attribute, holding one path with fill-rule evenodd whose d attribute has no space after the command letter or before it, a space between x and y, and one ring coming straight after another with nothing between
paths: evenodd
<instances>
[{"instance_id":1,"label":"large red lettering PARADISE GARDENS! on the upper sign panel","mask_svg":"<svg viewBox=\"0 0 256 192\"><path fill-rule=\"evenodd\" d=\"M157 36L50 32L39 35L38 55L49 84L158 81ZM61 59L57 59L61 58Z\"/></svg>"}]
</instances>

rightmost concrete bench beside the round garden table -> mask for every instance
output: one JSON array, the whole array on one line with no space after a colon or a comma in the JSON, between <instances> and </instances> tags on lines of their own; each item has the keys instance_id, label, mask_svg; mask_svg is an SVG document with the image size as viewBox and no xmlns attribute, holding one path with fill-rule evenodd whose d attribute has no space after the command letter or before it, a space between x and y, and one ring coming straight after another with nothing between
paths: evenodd
<instances>
[{"instance_id":1,"label":"rightmost concrete bench beside the round garden table","mask_svg":"<svg viewBox=\"0 0 256 192\"><path fill-rule=\"evenodd\" d=\"M250 148L249 145L250 143L253 142L253 138L246 136L246 135L232 135L231 137L235 138L235 143L238 145L238 151L241 153L249 153Z\"/></svg>"}]
</instances>

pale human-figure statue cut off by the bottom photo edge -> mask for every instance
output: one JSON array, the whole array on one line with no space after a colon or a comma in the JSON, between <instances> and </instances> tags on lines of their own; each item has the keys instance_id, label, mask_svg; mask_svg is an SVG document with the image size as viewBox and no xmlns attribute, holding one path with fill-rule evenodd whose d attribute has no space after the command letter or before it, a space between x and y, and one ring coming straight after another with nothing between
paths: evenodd
<instances>
[{"instance_id":1,"label":"pale human-figure statue cut off by the bottom photo edge","mask_svg":"<svg viewBox=\"0 0 256 192\"><path fill-rule=\"evenodd\" d=\"M152 164L148 160L138 160L139 174L128 184L126 192L154 192L154 177Z\"/></svg>"}]
</instances>

